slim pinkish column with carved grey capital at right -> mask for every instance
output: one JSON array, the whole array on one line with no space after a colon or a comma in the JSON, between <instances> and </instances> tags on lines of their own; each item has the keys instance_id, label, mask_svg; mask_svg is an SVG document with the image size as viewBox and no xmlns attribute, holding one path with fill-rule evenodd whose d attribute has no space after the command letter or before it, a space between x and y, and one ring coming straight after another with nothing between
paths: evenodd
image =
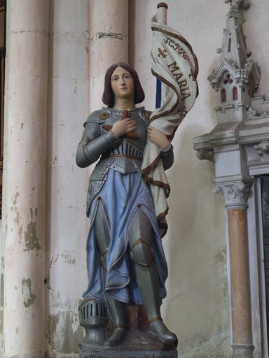
<instances>
[{"instance_id":1,"label":"slim pinkish column with carved grey capital at right","mask_svg":"<svg viewBox=\"0 0 269 358\"><path fill-rule=\"evenodd\" d=\"M230 252L230 291L233 325L233 357L252 358L249 251L247 235L247 199L252 178L218 182L215 192L222 192L228 211Z\"/></svg>"}]
</instances>

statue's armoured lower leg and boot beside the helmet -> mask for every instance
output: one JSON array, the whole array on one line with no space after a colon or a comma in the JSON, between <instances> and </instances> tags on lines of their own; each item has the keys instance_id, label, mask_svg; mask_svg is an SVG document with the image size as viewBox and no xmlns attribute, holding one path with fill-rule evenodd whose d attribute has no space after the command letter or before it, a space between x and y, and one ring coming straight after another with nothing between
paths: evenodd
<instances>
[{"instance_id":1,"label":"statue's armoured lower leg and boot beside the helmet","mask_svg":"<svg viewBox=\"0 0 269 358\"><path fill-rule=\"evenodd\" d=\"M104 342L104 347L113 347L123 339L128 331L126 305L114 299L108 292L106 292L106 304L113 322L113 334Z\"/></svg>"}]
</instances>

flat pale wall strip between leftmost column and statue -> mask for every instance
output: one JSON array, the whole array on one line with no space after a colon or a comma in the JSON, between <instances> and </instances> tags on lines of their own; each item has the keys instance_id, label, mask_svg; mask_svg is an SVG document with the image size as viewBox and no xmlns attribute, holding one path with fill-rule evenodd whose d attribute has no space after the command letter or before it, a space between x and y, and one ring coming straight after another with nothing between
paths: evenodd
<instances>
[{"instance_id":1,"label":"flat pale wall strip between leftmost column and statue","mask_svg":"<svg viewBox=\"0 0 269 358\"><path fill-rule=\"evenodd\" d=\"M89 114L88 0L50 1L46 357L75 357L83 330L88 173L75 155Z\"/></svg>"}]
</instances>

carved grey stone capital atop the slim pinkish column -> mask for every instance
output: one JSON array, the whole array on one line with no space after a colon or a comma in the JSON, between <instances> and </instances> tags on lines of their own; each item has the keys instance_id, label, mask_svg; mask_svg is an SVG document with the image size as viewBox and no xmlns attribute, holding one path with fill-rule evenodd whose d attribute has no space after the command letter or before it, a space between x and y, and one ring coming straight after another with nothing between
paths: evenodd
<instances>
[{"instance_id":1,"label":"carved grey stone capital atop the slim pinkish column","mask_svg":"<svg viewBox=\"0 0 269 358\"><path fill-rule=\"evenodd\" d=\"M247 200L249 199L252 182L251 177L222 182L214 180L216 184L214 192L222 193L226 208L247 209Z\"/></svg>"}]
</instances>

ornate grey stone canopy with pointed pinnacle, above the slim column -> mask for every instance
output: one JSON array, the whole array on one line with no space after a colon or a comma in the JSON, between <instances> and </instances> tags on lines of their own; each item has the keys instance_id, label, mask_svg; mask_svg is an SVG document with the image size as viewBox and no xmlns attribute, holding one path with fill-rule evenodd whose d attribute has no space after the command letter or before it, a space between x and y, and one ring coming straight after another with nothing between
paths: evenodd
<instances>
[{"instance_id":1,"label":"ornate grey stone canopy with pointed pinnacle, above the slim column","mask_svg":"<svg viewBox=\"0 0 269 358\"><path fill-rule=\"evenodd\" d=\"M257 96L260 74L244 41L248 1L230 3L219 66L208 80L217 92L217 125L193 138L199 159L215 162L216 180L269 173L269 101Z\"/></svg>"}]
</instances>

